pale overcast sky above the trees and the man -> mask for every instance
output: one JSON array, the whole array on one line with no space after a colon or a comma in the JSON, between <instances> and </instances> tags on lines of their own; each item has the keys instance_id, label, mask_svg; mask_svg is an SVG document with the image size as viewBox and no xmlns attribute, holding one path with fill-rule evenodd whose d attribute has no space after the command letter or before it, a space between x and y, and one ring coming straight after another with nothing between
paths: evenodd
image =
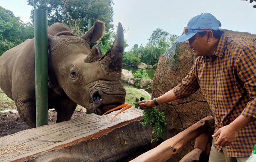
<instances>
[{"instance_id":1,"label":"pale overcast sky above the trees and the man","mask_svg":"<svg viewBox=\"0 0 256 162\"><path fill-rule=\"evenodd\" d=\"M128 47L145 46L154 30L160 28L170 34L181 35L188 21L200 13L211 13L221 28L256 34L256 2L245 0L113 0L113 24L118 22L125 30ZM27 0L0 0L0 6L9 9L23 22L30 22L32 7Z\"/></svg>"}]
</instances>

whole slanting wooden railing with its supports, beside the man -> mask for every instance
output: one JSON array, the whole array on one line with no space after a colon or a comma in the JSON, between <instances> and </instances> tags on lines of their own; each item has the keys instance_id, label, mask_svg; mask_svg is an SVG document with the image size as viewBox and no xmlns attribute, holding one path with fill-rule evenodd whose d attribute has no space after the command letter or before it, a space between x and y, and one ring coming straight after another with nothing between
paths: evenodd
<instances>
[{"instance_id":1,"label":"whole slanting wooden railing with its supports, beside the man","mask_svg":"<svg viewBox=\"0 0 256 162\"><path fill-rule=\"evenodd\" d=\"M159 162L167 161L177 154L182 147L196 139L194 150L184 156L180 162L199 160L202 153L209 154L211 135L214 131L214 119L210 116L198 121L176 136L165 140L157 147L133 159L131 162ZM198 161L197 160L197 161Z\"/></svg>"}]
</instances>

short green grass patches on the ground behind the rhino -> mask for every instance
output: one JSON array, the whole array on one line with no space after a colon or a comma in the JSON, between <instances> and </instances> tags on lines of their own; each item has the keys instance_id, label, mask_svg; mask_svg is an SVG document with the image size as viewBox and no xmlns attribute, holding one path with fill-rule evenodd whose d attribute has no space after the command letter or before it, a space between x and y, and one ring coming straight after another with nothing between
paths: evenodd
<instances>
[{"instance_id":1,"label":"short green grass patches on the ground behind the rhino","mask_svg":"<svg viewBox=\"0 0 256 162\"><path fill-rule=\"evenodd\" d=\"M140 90L137 90L133 88L132 86L124 86L126 90L126 97L125 97L125 103L135 103L136 98L144 97L145 100L150 100L150 97L146 95L146 93L141 92ZM77 109L80 106L78 105ZM135 107L135 106L133 106ZM17 109L15 106L14 101L10 99L3 90L0 89L0 111L8 110L8 109Z\"/></svg>"}]
</instances>

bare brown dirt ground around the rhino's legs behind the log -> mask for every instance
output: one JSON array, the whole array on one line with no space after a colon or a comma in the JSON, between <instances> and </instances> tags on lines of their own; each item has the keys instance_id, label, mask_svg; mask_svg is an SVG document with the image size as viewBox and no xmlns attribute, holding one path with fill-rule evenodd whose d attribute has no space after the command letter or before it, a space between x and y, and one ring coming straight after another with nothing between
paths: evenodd
<instances>
[{"instance_id":1,"label":"bare brown dirt ground around the rhino's legs behind the log","mask_svg":"<svg viewBox=\"0 0 256 162\"><path fill-rule=\"evenodd\" d=\"M83 116L84 112L76 110L71 117L75 119L77 117ZM57 111L49 110L49 120L48 124L54 124L57 118ZM18 113L1 113L0 112L0 137L14 134L16 132L27 130L29 126L20 118Z\"/></svg>"}]
</instances>

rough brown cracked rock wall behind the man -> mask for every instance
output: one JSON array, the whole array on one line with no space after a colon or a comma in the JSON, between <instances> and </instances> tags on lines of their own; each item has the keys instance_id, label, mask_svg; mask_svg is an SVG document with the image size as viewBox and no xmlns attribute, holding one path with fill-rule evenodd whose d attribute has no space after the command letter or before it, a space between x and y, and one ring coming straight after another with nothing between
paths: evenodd
<instances>
[{"instance_id":1,"label":"rough brown cracked rock wall behind the man","mask_svg":"<svg viewBox=\"0 0 256 162\"><path fill-rule=\"evenodd\" d=\"M223 31L228 36L240 37L256 44L256 35L246 32ZM187 42L176 42L169 51L162 54L153 79L152 99L163 95L181 82L190 71L195 58L192 51L188 49ZM157 108L165 113L167 122L163 140L171 138L198 120L211 115L210 107L200 89L187 99L162 104ZM193 150L193 142L184 147L180 153L174 155L169 161L179 161L191 150Z\"/></svg>"}]
</instances>

